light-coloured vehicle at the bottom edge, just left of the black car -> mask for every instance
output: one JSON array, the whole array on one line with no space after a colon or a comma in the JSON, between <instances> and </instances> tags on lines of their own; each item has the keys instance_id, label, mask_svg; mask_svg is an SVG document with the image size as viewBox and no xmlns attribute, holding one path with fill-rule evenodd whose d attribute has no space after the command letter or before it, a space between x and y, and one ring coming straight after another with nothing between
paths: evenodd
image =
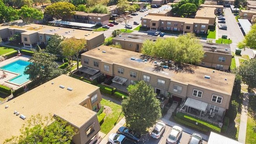
<instances>
[{"instance_id":1,"label":"light-coloured vehicle at the bottom edge, just left of the black car","mask_svg":"<svg viewBox=\"0 0 256 144\"><path fill-rule=\"evenodd\" d=\"M124 135L112 133L108 136L108 144L134 144L130 142Z\"/></svg>"}]
</instances>

